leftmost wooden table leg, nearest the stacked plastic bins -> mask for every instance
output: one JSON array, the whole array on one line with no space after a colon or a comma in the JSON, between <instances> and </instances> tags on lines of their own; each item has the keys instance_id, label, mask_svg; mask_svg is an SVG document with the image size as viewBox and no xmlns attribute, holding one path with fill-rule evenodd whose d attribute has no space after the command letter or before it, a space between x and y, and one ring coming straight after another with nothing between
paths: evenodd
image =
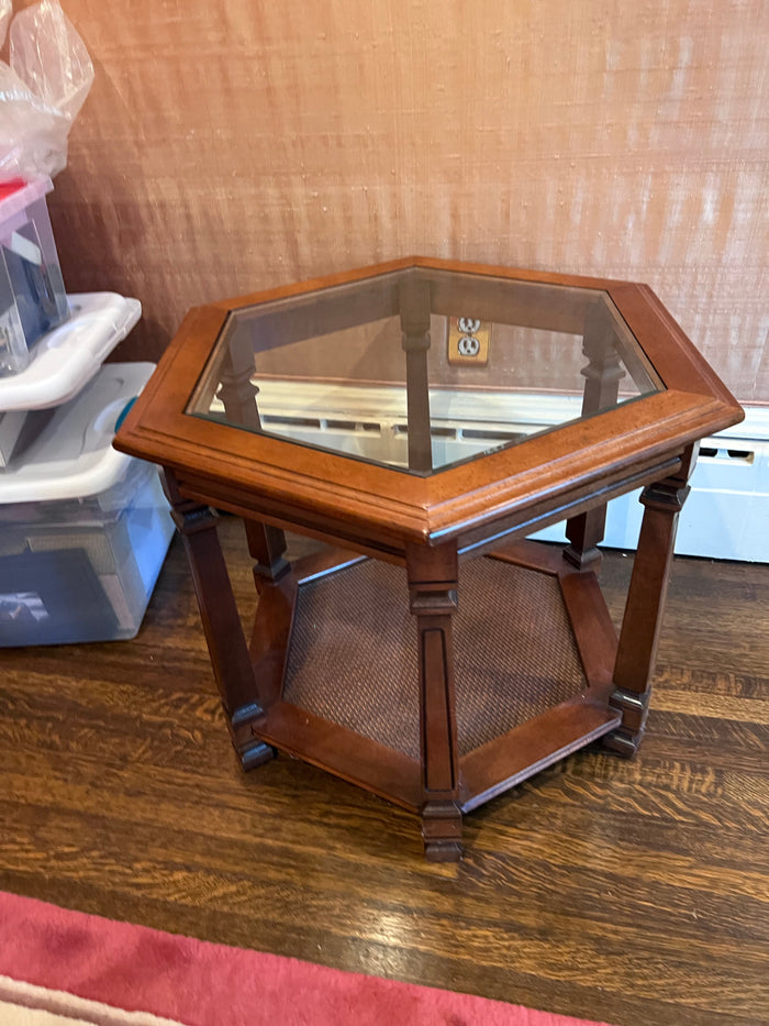
<instances>
[{"instance_id":1,"label":"leftmost wooden table leg, nearest the stacked plastic bins","mask_svg":"<svg viewBox=\"0 0 769 1026\"><path fill-rule=\"evenodd\" d=\"M272 749L253 737L252 720L261 714L248 646L232 593L216 533L216 514L179 495L174 475L165 472L171 516L185 541L200 617L214 676L235 750L245 769L272 758Z\"/></svg>"}]
</instances>

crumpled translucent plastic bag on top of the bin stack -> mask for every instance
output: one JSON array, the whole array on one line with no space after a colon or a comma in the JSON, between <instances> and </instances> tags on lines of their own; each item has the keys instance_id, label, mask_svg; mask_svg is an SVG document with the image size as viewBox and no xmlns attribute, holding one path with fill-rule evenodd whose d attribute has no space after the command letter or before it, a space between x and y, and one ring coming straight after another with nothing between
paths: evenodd
<instances>
[{"instance_id":1,"label":"crumpled translucent plastic bag on top of the bin stack","mask_svg":"<svg viewBox=\"0 0 769 1026\"><path fill-rule=\"evenodd\" d=\"M2 31L10 12L0 2ZM66 166L69 130L92 81L85 44L57 0L16 14L9 64L0 62L0 181L53 178Z\"/></svg>"}]
</instances>

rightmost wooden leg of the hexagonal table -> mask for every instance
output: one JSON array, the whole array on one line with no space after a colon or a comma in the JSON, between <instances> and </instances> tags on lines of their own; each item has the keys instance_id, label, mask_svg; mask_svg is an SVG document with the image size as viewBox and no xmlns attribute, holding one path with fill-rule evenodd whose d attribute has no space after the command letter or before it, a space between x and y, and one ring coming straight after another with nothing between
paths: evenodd
<instances>
[{"instance_id":1,"label":"rightmost wooden leg of the hexagonal table","mask_svg":"<svg viewBox=\"0 0 769 1026\"><path fill-rule=\"evenodd\" d=\"M635 754L644 735L678 517L695 461L696 448L689 450L679 474L649 485L640 496L644 520L614 664L615 691L610 698L610 705L622 713L622 724L603 739L608 748L626 757Z\"/></svg>"}]
</instances>

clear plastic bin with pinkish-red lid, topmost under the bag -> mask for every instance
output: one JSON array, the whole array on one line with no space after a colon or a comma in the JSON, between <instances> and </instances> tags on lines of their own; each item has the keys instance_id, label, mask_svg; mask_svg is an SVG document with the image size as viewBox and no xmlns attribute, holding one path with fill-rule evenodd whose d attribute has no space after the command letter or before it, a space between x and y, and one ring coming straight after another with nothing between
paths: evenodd
<instances>
[{"instance_id":1,"label":"clear plastic bin with pinkish-red lid, topmost under the bag","mask_svg":"<svg viewBox=\"0 0 769 1026\"><path fill-rule=\"evenodd\" d=\"M18 374L30 350L68 317L45 196L49 178L0 187L0 377Z\"/></svg>"}]
</instances>

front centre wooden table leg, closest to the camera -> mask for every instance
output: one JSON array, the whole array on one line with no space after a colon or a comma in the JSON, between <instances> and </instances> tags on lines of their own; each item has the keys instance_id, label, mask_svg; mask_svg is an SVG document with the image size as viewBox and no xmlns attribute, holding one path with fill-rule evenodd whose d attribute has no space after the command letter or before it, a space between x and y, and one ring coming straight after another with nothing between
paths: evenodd
<instances>
[{"instance_id":1,"label":"front centre wooden table leg, closest to the camera","mask_svg":"<svg viewBox=\"0 0 769 1026\"><path fill-rule=\"evenodd\" d=\"M434 862L461 858L452 617L457 608L456 547L406 552L420 653L422 836Z\"/></svg>"}]
</instances>

